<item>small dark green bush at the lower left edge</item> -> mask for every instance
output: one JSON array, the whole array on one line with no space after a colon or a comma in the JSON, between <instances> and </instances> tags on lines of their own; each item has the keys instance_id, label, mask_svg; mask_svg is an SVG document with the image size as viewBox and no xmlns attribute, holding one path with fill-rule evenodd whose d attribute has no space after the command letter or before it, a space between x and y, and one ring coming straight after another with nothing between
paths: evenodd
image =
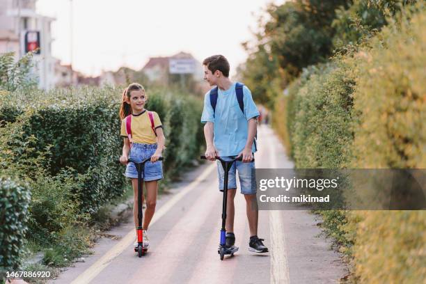
<instances>
[{"instance_id":1,"label":"small dark green bush at the lower left edge","mask_svg":"<svg viewBox=\"0 0 426 284\"><path fill-rule=\"evenodd\" d=\"M27 185L0 177L0 278L20 265L29 201Z\"/></svg>"}]
</instances>

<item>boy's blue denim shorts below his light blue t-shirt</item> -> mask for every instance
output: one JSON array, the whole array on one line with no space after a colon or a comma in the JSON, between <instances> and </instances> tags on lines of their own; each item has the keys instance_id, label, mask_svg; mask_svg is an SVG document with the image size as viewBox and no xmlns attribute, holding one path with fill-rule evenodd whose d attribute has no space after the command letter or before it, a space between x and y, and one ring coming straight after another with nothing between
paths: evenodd
<instances>
[{"instance_id":1,"label":"boy's blue denim shorts below his light blue t-shirt","mask_svg":"<svg viewBox=\"0 0 426 284\"><path fill-rule=\"evenodd\" d=\"M230 161L233 157L221 157L225 161ZM255 164L254 161L250 163L243 163L242 161L235 161L228 174L228 189L237 188L237 176L238 171L239 184L241 186L242 194L255 194L256 193L256 176L255 176ZM225 177L225 171L221 161L217 161L217 173L219 175L219 190L223 191L223 178Z\"/></svg>"}]
</instances>

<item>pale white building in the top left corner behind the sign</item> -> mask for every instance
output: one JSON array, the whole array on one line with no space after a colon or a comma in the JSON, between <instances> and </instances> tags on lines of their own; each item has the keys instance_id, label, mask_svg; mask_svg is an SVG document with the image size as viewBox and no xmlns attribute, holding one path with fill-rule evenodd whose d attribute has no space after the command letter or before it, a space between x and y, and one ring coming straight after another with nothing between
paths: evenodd
<instances>
[{"instance_id":1,"label":"pale white building in the top left corner behind the sign","mask_svg":"<svg viewBox=\"0 0 426 284\"><path fill-rule=\"evenodd\" d=\"M55 62L52 57L51 24L55 20L36 13L37 0L0 0L0 53L15 52L21 57L25 53L26 31L40 32L40 54L34 54L34 72L38 86L43 89L54 87Z\"/></svg>"}]
</instances>

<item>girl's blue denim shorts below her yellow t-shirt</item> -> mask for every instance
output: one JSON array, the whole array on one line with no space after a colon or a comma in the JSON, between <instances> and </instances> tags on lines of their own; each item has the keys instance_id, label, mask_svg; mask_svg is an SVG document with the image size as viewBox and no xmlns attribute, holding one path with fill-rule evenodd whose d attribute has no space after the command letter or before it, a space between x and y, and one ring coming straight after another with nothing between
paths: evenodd
<instances>
[{"instance_id":1,"label":"girl's blue denim shorts below her yellow t-shirt","mask_svg":"<svg viewBox=\"0 0 426 284\"><path fill-rule=\"evenodd\" d=\"M157 150L157 144L132 143L129 158L139 163L143 159L151 157L155 150ZM125 176L127 178L138 178L138 171L132 162L127 163ZM142 175L142 178L146 182L161 180L163 178L162 161L156 161L155 163L147 161L145 163L145 175Z\"/></svg>"}]
</instances>

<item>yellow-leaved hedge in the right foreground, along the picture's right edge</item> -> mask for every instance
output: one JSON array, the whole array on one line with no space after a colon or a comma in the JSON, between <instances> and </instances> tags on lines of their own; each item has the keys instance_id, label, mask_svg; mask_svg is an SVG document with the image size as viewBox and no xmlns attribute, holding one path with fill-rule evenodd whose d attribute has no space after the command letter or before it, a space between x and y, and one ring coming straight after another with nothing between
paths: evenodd
<instances>
[{"instance_id":1,"label":"yellow-leaved hedge in the right foreground, along the picture's right edge","mask_svg":"<svg viewBox=\"0 0 426 284\"><path fill-rule=\"evenodd\" d=\"M356 57L354 167L426 168L426 11L410 17ZM349 220L361 283L425 281L425 211L352 212Z\"/></svg>"}]
</instances>

